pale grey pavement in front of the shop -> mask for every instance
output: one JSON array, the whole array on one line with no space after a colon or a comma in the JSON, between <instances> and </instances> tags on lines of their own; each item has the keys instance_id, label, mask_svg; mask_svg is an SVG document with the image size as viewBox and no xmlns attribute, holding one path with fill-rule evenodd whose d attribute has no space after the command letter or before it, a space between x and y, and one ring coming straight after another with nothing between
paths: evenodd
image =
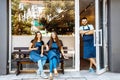
<instances>
[{"instance_id":1,"label":"pale grey pavement in front of the shop","mask_svg":"<svg viewBox=\"0 0 120 80\"><path fill-rule=\"evenodd\" d=\"M48 75L48 73L47 73ZM0 80L48 80L42 79L35 73L21 73L18 76L15 74L1 75ZM89 73L87 70L79 72L65 72L59 73L59 76L54 77L53 80L120 80L120 73L105 72L101 75L96 73Z\"/></svg>"}]
</instances>

